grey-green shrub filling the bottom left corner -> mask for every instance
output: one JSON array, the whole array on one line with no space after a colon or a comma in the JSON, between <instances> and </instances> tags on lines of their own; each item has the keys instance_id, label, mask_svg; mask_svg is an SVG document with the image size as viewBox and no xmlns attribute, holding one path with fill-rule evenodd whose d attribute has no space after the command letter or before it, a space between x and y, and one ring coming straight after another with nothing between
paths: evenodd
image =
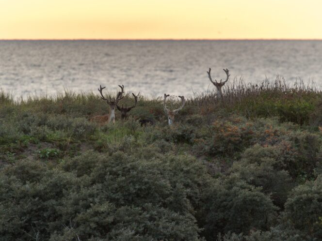
<instances>
[{"instance_id":1,"label":"grey-green shrub filling the bottom left corner","mask_svg":"<svg viewBox=\"0 0 322 241\"><path fill-rule=\"evenodd\" d=\"M0 176L0 240L30 239L35 233L48 240L52 226L61 226L56 208L64 205L65 192L77 187L76 179L34 162L8 167Z\"/></svg>"}]
</instances>

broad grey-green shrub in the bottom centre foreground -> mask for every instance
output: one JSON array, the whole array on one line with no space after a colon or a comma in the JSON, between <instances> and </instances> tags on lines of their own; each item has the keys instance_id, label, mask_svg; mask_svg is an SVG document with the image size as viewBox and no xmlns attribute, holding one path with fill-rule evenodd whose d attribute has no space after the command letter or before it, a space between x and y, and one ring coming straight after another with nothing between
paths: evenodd
<instances>
[{"instance_id":1,"label":"broad grey-green shrub in the bottom centre foreground","mask_svg":"<svg viewBox=\"0 0 322 241\"><path fill-rule=\"evenodd\" d=\"M90 190L66 196L64 201L62 215L72 217L75 224L80 225L76 229L80 237L91 237L93 232L99 232L98 237L113 240L125 234L129 235L129 240L197 239L199 228L192 213L203 186L207 185L203 166L191 158L175 156L137 160L118 152L112 156L95 155L92 160L89 157L88 153L63 164L64 168L68 167L66 170L73 170L72 164L78 174L90 173L90 183L96 183ZM86 166L92 167L86 171ZM102 207L102 201L109 203ZM75 216L76 213L80 214ZM97 218L99 215L102 217ZM104 222L108 220L113 223L107 230ZM88 224L96 226L95 231Z\"/></svg>"}]
</instances>

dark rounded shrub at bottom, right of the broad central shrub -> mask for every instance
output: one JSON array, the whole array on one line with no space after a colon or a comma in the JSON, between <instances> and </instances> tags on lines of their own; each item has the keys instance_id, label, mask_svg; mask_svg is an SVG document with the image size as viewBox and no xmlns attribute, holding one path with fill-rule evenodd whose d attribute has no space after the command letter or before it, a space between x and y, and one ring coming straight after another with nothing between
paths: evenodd
<instances>
[{"instance_id":1,"label":"dark rounded shrub at bottom, right of the broad central shrub","mask_svg":"<svg viewBox=\"0 0 322 241\"><path fill-rule=\"evenodd\" d=\"M277 208L269 196L239 177L231 176L212 187L205 205L204 235L213 240L219 233L267 230Z\"/></svg>"}]
</instances>

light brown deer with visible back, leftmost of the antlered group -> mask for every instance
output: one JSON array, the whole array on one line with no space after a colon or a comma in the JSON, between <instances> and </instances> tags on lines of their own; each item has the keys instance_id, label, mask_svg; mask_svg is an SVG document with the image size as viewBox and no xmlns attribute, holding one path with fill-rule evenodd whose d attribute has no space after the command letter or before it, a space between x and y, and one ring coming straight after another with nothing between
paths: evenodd
<instances>
[{"instance_id":1,"label":"light brown deer with visible back, leftmost of the antlered group","mask_svg":"<svg viewBox=\"0 0 322 241\"><path fill-rule=\"evenodd\" d=\"M124 93L124 86L122 85L119 85L119 87L121 88L121 91L119 91L117 93L117 96L116 96L116 99L113 97L113 100L111 98L111 96L109 95L109 99L105 98L104 95L103 95L103 89L105 89L105 87L102 87L101 85L99 86L99 93L101 95L101 99L102 100L105 100L106 103L108 105L110 105L110 112L109 114L107 115L103 115L103 116L94 116L91 121L95 121L95 122L98 122L98 123L111 123L111 121L113 121L113 124L115 123L115 108L116 108L116 105L117 103L124 98L123 96L123 93Z\"/></svg>"}]
</instances>

